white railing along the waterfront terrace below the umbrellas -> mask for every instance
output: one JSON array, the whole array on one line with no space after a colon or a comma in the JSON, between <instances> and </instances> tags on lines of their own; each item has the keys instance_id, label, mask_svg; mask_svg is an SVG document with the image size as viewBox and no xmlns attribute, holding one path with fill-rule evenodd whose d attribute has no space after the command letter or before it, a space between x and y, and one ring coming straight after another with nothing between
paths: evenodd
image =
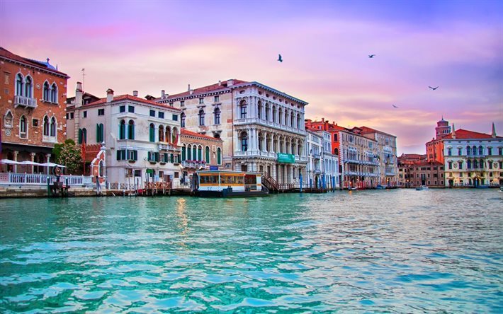
<instances>
[{"instance_id":1,"label":"white railing along the waterfront terrace below the umbrellas","mask_svg":"<svg viewBox=\"0 0 503 314\"><path fill-rule=\"evenodd\" d=\"M40 175L35 173L0 173L0 185L52 185L57 177L55 175ZM91 176L60 175L60 182L69 186L93 185Z\"/></svg>"}]
</instances>

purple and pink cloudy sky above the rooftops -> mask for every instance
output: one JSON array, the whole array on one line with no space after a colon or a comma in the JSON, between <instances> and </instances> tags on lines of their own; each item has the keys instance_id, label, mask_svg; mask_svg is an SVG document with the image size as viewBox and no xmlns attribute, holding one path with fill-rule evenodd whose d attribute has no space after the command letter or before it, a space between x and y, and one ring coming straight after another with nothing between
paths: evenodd
<instances>
[{"instance_id":1,"label":"purple and pink cloudy sky above the rooftops","mask_svg":"<svg viewBox=\"0 0 503 314\"><path fill-rule=\"evenodd\" d=\"M69 96L82 68L99 97L258 81L306 118L397 136L399 155L425 153L441 117L503 135L503 1L0 0L0 46L50 58Z\"/></svg>"}]
</instances>

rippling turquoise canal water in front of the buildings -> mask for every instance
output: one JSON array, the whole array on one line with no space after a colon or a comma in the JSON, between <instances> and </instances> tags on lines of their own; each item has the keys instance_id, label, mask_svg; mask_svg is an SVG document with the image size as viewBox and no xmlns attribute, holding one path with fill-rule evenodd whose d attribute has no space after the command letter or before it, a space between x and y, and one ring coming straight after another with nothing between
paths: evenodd
<instances>
[{"instance_id":1,"label":"rippling turquoise canal water in front of the buildings","mask_svg":"<svg viewBox=\"0 0 503 314\"><path fill-rule=\"evenodd\" d=\"M0 313L501 313L496 190L0 200Z\"/></svg>"}]
</instances>

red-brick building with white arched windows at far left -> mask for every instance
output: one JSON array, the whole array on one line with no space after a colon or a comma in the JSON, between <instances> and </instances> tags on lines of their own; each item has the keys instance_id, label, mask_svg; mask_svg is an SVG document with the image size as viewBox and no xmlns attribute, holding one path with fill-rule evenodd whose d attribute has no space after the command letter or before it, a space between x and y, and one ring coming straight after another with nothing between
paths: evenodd
<instances>
[{"instance_id":1,"label":"red-brick building with white arched windows at far left","mask_svg":"<svg viewBox=\"0 0 503 314\"><path fill-rule=\"evenodd\" d=\"M18 56L0 47L1 158L46 163L52 149L66 139L67 79L46 62ZM40 173L46 168L23 166ZM17 172L17 166L11 168Z\"/></svg>"}]
</instances>

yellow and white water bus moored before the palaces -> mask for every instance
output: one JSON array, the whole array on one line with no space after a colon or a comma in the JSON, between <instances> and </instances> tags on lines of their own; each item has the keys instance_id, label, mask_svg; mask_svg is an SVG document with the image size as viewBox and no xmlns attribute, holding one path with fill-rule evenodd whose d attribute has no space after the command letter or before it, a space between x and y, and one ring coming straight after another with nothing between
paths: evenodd
<instances>
[{"instance_id":1,"label":"yellow and white water bus moored before the palaces","mask_svg":"<svg viewBox=\"0 0 503 314\"><path fill-rule=\"evenodd\" d=\"M269 194L262 185L261 173L204 170L196 172L196 190L200 197L259 197Z\"/></svg>"}]
</instances>

